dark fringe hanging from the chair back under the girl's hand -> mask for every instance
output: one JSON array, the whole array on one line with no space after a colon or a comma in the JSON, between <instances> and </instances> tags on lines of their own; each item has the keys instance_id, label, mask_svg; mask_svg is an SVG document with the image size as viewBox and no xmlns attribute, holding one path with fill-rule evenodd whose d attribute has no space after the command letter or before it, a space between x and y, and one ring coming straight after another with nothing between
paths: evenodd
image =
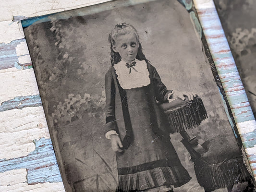
<instances>
[{"instance_id":1,"label":"dark fringe hanging from the chair back under the girl's hand","mask_svg":"<svg viewBox=\"0 0 256 192\"><path fill-rule=\"evenodd\" d=\"M198 96L188 101L186 105L166 110L164 113L169 120L170 133L192 129L208 118L203 101Z\"/></svg>"}]
</instances>

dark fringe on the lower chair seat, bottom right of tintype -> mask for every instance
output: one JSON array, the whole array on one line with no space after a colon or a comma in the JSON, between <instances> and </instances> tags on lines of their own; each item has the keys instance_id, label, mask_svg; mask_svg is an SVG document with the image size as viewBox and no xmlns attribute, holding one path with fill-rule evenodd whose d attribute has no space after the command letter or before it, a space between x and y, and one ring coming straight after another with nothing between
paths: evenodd
<instances>
[{"instance_id":1,"label":"dark fringe on the lower chair seat, bottom right of tintype","mask_svg":"<svg viewBox=\"0 0 256 192\"><path fill-rule=\"evenodd\" d=\"M231 159L217 164L198 160L194 163L194 167L197 181L206 191L226 188L238 182L244 182L248 177L248 171L242 159L240 161Z\"/></svg>"}]
</instances>

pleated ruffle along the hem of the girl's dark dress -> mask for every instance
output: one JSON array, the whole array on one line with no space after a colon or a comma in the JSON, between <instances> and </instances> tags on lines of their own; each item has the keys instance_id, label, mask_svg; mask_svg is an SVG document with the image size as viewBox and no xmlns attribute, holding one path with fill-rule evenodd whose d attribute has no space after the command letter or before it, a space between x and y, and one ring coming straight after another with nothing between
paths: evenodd
<instances>
[{"instance_id":1,"label":"pleated ruffle along the hem of the girl's dark dress","mask_svg":"<svg viewBox=\"0 0 256 192\"><path fill-rule=\"evenodd\" d=\"M144 191L164 184L179 187L191 177L179 167L159 167L134 174L119 175L117 192Z\"/></svg>"}]
</instances>

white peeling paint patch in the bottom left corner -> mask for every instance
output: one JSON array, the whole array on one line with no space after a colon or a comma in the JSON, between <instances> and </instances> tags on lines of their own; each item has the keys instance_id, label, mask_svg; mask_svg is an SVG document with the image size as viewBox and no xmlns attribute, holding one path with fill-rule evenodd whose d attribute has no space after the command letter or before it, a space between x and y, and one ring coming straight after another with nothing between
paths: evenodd
<instances>
[{"instance_id":1,"label":"white peeling paint patch in the bottom left corner","mask_svg":"<svg viewBox=\"0 0 256 192\"><path fill-rule=\"evenodd\" d=\"M0 173L0 192L65 192L62 182L28 185L26 169L14 169Z\"/></svg>"}]
</instances>

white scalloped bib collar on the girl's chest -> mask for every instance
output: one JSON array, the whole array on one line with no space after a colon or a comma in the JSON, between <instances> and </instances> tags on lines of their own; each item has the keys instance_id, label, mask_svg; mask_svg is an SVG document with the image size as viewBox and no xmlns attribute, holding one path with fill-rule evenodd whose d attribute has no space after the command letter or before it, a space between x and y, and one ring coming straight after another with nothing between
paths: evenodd
<instances>
[{"instance_id":1,"label":"white scalloped bib collar on the girl's chest","mask_svg":"<svg viewBox=\"0 0 256 192\"><path fill-rule=\"evenodd\" d=\"M118 75L117 79L119 84L123 89L139 88L150 84L146 61L135 60L135 62L136 64L134 68L137 72L131 68L131 73L129 73L130 69L126 66L126 62L123 60L113 66Z\"/></svg>"}]
</instances>

